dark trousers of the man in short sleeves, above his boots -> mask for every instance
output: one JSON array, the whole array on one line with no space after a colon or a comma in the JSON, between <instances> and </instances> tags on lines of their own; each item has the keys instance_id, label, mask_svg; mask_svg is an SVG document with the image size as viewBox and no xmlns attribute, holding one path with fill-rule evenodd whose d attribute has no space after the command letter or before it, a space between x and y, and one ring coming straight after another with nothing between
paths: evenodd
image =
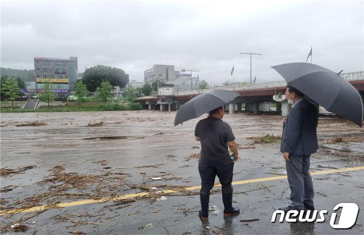
<instances>
[{"instance_id":1,"label":"dark trousers of the man in short sleeves, above his boots","mask_svg":"<svg viewBox=\"0 0 364 235\"><path fill-rule=\"evenodd\" d=\"M232 193L233 189L231 182L233 180L233 169L234 163L222 166L210 166L199 163L198 171L201 176L200 194L210 194L216 176L219 177L220 184L222 185L222 192Z\"/></svg>"}]
</instances>

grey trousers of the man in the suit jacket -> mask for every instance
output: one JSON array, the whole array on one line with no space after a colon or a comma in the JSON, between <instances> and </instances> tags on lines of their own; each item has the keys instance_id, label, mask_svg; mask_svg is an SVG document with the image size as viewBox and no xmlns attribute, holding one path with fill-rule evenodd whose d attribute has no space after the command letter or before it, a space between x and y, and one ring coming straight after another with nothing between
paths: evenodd
<instances>
[{"instance_id":1,"label":"grey trousers of the man in the suit jacket","mask_svg":"<svg viewBox=\"0 0 364 235\"><path fill-rule=\"evenodd\" d=\"M311 155L290 155L290 162L286 161L287 179L291 189L292 206L303 209L313 206L313 184L309 172Z\"/></svg>"}]
</instances>

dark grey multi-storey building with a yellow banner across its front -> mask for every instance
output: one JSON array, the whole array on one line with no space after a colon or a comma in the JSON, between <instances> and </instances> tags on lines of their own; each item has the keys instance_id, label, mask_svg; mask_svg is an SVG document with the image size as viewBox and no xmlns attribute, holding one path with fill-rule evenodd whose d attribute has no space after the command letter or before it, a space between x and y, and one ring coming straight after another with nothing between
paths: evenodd
<instances>
[{"instance_id":1,"label":"dark grey multi-storey building with a yellow banner across its front","mask_svg":"<svg viewBox=\"0 0 364 235\"><path fill-rule=\"evenodd\" d=\"M34 57L36 91L43 91L43 82L50 79L59 97L73 93L77 82L77 57L69 59Z\"/></svg>"}]
</instances>

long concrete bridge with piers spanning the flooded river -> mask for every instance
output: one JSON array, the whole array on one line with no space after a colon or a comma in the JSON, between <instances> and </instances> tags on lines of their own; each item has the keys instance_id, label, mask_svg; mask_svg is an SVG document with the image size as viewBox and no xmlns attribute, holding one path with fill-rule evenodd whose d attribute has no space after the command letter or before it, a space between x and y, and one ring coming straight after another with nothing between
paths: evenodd
<instances>
[{"instance_id":1,"label":"long concrete bridge with piers spanning the flooded river","mask_svg":"<svg viewBox=\"0 0 364 235\"><path fill-rule=\"evenodd\" d=\"M362 97L364 97L364 71L342 73L341 76L353 85ZM258 114L259 111L270 111L271 103L276 103L277 113L281 113L282 116L287 116L289 105L285 98L286 85L287 83L285 81L274 81L205 90L190 90L175 92L174 95L169 96L144 96L138 98L138 102L143 106L148 105L149 109L178 109L179 106L199 94L222 89L240 93L240 96L225 106L225 110L229 111L230 114L235 111L242 111L242 104L245 104L245 111Z\"/></svg>"}]
</instances>

